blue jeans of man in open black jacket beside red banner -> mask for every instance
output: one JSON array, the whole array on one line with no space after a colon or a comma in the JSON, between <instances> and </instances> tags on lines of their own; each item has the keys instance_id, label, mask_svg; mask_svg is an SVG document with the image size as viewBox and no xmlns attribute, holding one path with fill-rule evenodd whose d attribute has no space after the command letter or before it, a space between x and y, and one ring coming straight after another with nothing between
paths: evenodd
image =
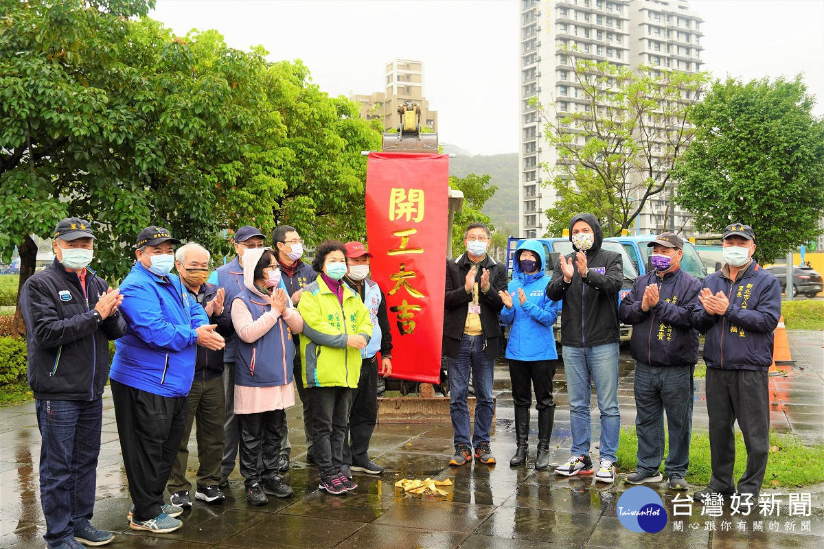
<instances>
[{"instance_id":1,"label":"blue jeans of man in open black jacket beside red banner","mask_svg":"<svg viewBox=\"0 0 824 549\"><path fill-rule=\"evenodd\" d=\"M489 442L489 430L492 428L492 416L494 415L492 400L494 367L494 359L486 356L483 335L467 336L465 334L461 338L461 351L458 357L447 356L449 415L452 416L455 445L470 444L469 406L466 404L470 371L472 372L472 386L475 388L475 433L472 435L472 446L477 446L481 442Z\"/></svg>"}]
</instances>

